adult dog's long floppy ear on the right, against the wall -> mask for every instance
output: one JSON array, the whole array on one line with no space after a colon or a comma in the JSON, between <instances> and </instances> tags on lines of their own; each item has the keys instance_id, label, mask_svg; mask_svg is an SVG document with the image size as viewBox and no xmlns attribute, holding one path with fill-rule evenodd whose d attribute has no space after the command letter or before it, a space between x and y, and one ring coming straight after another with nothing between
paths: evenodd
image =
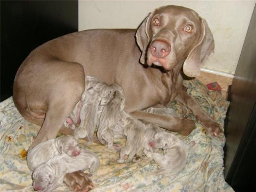
<instances>
[{"instance_id":1,"label":"adult dog's long floppy ear on the right, against the wall","mask_svg":"<svg viewBox=\"0 0 256 192\"><path fill-rule=\"evenodd\" d=\"M183 72L188 77L195 77L200 74L200 68L209 59L209 56L214 53L213 34L206 23L206 20L201 20L201 35L199 41L188 54L187 59L183 64Z\"/></svg>"}]
</instances>

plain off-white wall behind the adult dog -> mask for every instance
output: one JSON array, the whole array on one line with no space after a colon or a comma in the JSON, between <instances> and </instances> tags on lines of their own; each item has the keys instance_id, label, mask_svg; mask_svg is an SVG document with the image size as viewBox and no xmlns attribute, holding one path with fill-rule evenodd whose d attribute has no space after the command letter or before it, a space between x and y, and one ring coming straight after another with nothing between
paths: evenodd
<instances>
[{"instance_id":1,"label":"plain off-white wall behind the adult dog","mask_svg":"<svg viewBox=\"0 0 256 192\"><path fill-rule=\"evenodd\" d=\"M255 0L79 0L79 31L95 28L137 28L150 12L163 5L188 7L206 19L215 39L215 54L204 68L235 73Z\"/></svg>"}]
</instances>

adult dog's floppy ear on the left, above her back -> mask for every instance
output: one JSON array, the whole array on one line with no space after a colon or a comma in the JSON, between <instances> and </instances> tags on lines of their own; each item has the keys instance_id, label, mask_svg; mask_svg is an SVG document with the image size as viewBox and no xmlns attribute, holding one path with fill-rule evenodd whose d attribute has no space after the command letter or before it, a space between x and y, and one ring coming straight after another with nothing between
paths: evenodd
<instances>
[{"instance_id":1,"label":"adult dog's floppy ear on the left, above her back","mask_svg":"<svg viewBox=\"0 0 256 192\"><path fill-rule=\"evenodd\" d=\"M136 32L136 42L141 50L141 56L140 56L140 63L145 64L145 55L147 52L147 47L150 43L150 22L152 20L152 17L154 15L153 11L149 16L143 20L143 22L140 24L140 26L137 29Z\"/></svg>"}]
</instances>

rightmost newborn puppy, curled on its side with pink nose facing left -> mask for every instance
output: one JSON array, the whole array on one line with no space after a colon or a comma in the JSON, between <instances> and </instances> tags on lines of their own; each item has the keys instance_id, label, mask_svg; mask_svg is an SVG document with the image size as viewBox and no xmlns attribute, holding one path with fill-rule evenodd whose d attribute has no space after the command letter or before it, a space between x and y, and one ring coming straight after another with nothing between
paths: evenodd
<instances>
[{"instance_id":1,"label":"rightmost newborn puppy, curled on its side with pink nose facing left","mask_svg":"<svg viewBox=\"0 0 256 192\"><path fill-rule=\"evenodd\" d=\"M173 134L161 131L154 135L149 145L153 149L163 149L163 155L146 149L143 150L143 153L147 157L153 158L160 167L152 174L176 174L185 167L188 150L195 145L195 141L186 145Z\"/></svg>"}]
</instances>

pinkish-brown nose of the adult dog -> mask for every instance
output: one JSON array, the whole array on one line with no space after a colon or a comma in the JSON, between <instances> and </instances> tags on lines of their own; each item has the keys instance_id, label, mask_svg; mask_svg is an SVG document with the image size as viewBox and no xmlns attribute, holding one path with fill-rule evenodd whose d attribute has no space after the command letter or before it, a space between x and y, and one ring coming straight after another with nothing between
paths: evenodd
<instances>
[{"instance_id":1,"label":"pinkish-brown nose of the adult dog","mask_svg":"<svg viewBox=\"0 0 256 192\"><path fill-rule=\"evenodd\" d=\"M156 57L165 57L171 51L171 46L164 41L153 41L150 45L150 52Z\"/></svg>"}]
</instances>

